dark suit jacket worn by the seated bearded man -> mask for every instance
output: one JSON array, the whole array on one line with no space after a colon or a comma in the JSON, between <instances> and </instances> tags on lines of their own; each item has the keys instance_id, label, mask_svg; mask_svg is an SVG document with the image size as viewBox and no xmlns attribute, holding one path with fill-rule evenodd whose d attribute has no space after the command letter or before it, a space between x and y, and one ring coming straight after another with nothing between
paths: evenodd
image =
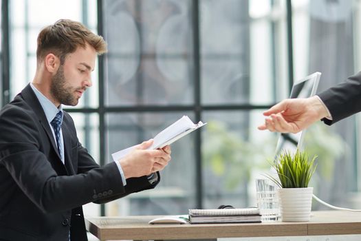
<instances>
[{"instance_id":1,"label":"dark suit jacket worn by the seated bearded man","mask_svg":"<svg viewBox=\"0 0 361 241\"><path fill-rule=\"evenodd\" d=\"M0 112L0 240L87 240L82 205L151 189L146 176L127 179L116 163L99 167L64 112L65 165L30 85ZM158 177L159 174L158 174Z\"/></svg>"}]
</instances>

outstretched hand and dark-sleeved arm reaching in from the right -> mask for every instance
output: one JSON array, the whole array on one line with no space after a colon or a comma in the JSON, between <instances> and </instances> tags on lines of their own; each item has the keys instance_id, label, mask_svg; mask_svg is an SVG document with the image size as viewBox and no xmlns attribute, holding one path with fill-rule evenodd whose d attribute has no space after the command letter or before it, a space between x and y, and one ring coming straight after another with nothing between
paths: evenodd
<instances>
[{"instance_id":1,"label":"outstretched hand and dark-sleeved arm reaching in from the right","mask_svg":"<svg viewBox=\"0 0 361 241\"><path fill-rule=\"evenodd\" d=\"M322 120L332 125L361 111L361 72L347 81L309 98L281 101L266 112L259 129L271 132L297 133Z\"/></svg>"}]
</instances>

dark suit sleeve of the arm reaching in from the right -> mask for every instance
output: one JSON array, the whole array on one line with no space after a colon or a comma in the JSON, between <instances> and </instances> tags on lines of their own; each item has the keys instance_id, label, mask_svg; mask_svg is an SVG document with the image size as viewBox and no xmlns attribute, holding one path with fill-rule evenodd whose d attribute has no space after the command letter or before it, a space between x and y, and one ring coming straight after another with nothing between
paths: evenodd
<instances>
[{"instance_id":1,"label":"dark suit sleeve of the arm reaching in from the right","mask_svg":"<svg viewBox=\"0 0 361 241\"><path fill-rule=\"evenodd\" d=\"M347 78L347 81L317 95L320 96L331 113L332 121L326 118L322 119L327 125L331 125L343 118L360 112L361 72Z\"/></svg>"}]
</instances>

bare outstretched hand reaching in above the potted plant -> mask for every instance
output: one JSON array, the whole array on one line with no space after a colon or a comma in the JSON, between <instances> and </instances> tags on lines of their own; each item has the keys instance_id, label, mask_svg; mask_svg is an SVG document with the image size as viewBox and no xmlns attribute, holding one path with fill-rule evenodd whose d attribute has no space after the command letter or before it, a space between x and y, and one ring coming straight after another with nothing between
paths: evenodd
<instances>
[{"instance_id":1,"label":"bare outstretched hand reaching in above the potted plant","mask_svg":"<svg viewBox=\"0 0 361 241\"><path fill-rule=\"evenodd\" d=\"M289 98L263 112L265 123L258 129L270 132L297 133L312 123L328 116L327 109L318 98Z\"/></svg>"}]
</instances>

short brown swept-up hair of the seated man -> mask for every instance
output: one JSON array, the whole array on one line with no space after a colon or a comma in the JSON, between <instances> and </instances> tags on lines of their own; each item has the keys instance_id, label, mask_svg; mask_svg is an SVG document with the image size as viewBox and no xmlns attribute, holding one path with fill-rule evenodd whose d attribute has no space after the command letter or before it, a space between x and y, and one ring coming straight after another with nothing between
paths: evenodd
<instances>
[{"instance_id":1,"label":"short brown swept-up hair of the seated man","mask_svg":"<svg viewBox=\"0 0 361 241\"><path fill-rule=\"evenodd\" d=\"M85 48L87 44L98 54L107 52L107 43L102 36L94 34L82 23L69 19L61 19L49 25L38 36L36 59L38 63L47 55L55 54L64 63L67 54L76 51L78 47Z\"/></svg>"}]
</instances>

